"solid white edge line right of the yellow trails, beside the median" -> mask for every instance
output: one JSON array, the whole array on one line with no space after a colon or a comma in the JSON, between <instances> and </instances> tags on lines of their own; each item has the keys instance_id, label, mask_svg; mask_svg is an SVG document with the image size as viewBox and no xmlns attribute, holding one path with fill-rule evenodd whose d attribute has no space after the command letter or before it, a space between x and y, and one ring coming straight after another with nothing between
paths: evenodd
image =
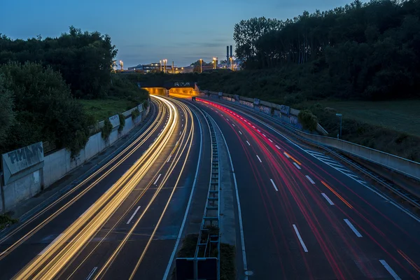
<instances>
[{"instance_id":1,"label":"solid white edge line right of the yellow trails, beside the median","mask_svg":"<svg viewBox=\"0 0 420 280\"><path fill-rule=\"evenodd\" d=\"M195 108L197 108L197 107L195 107ZM195 111L192 111L192 112L194 113L195 117L198 120L198 116L195 113ZM186 225L188 212L190 211L191 201L193 200L193 194L194 194L194 190L195 190L195 184L197 183L197 178L198 178L198 171L200 170L200 162L201 162L202 146L203 146L203 141L202 141L202 135L203 134L202 134L202 126L201 126L200 121L198 120L197 123L198 123L198 125L200 127L200 153L198 154L198 165L197 165L197 170L195 171L195 177L194 177L194 181L193 181L193 188L191 188L191 193L190 193L190 198L188 199L186 213L183 216L183 220L182 220L182 223L181 223L181 228L179 228L179 232L178 232L178 237L176 237L174 251L172 251L171 257L169 258L167 269L165 270L165 274L163 275L162 280L167 280L168 275L169 275L169 272L171 271L172 262L174 262L176 251L178 251L179 241L181 241L181 237L182 237L182 233L183 233L183 228ZM235 176L235 174L234 174L234 176Z\"/></svg>"}]
</instances>

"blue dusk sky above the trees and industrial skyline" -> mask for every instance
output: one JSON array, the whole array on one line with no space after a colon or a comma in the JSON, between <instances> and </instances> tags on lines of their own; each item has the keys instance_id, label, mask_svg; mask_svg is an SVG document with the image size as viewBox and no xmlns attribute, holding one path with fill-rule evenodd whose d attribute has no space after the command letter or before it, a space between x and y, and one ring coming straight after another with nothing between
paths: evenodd
<instances>
[{"instance_id":1,"label":"blue dusk sky above the trees and industrial skyline","mask_svg":"<svg viewBox=\"0 0 420 280\"><path fill-rule=\"evenodd\" d=\"M350 0L0 0L0 33L15 38L59 36L74 25L109 34L124 68L168 59L186 66L223 59L235 23L265 16L286 20Z\"/></svg>"}]
</instances>

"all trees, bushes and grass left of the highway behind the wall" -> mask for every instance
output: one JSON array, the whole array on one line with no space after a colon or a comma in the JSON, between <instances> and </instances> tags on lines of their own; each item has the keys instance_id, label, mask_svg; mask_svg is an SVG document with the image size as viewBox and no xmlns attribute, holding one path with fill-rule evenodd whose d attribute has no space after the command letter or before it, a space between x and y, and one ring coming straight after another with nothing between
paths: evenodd
<instances>
[{"instance_id":1,"label":"all trees, bushes and grass left of the highway behind the wall","mask_svg":"<svg viewBox=\"0 0 420 280\"><path fill-rule=\"evenodd\" d=\"M0 34L0 153L43 141L76 155L89 127L147 99L111 73L116 53L108 35L75 27L26 41Z\"/></svg>"}]
</instances>

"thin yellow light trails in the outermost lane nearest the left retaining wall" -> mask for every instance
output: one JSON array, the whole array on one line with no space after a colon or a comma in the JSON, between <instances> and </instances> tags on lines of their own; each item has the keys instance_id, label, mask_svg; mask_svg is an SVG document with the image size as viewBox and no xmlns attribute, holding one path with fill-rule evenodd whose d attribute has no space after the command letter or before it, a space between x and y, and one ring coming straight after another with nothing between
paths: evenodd
<instances>
[{"instance_id":1,"label":"thin yellow light trails in the outermost lane nearest the left retaining wall","mask_svg":"<svg viewBox=\"0 0 420 280\"><path fill-rule=\"evenodd\" d=\"M25 228L25 226L27 226L29 223L31 223L32 221L34 221L36 218L38 218L39 216L41 216L42 214L44 214L46 211L50 210L56 204L58 204L59 202L62 202L62 200L64 200L66 197L68 197L69 195L71 195L72 193L74 193L76 190L78 190L80 187L82 187L87 181L89 181L90 179L92 179L94 176L96 176L97 174L99 174L100 172L102 172L104 169L106 169L107 167L109 167L109 165L112 165L116 160L118 160L118 158L120 158L121 155L123 155L125 152L129 151L130 148L132 148L132 151L130 151L127 155L125 155L125 157L123 157L121 160L119 160L118 162L116 162L108 171L106 171L104 174L102 174L102 176L100 176L99 179L95 180L85 190L83 190L81 193L79 193L78 195L76 195L76 197L73 197L72 200L70 200L69 202L67 202L59 210L55 211L54 214L50 215L48 218L45 218L40 224L36 225L36 227L34 229L30 230L26 235L24 235L23 237L21 237L18 241L15 241L15 243L13 243L8 248L6 248L6 250L4 250L2 253L0 253L0 260L2 260L3 258L5 258L6 255L8 255L10 252L12 252L15 248L18 248L18 246L20 246L23 242L25 242L27 239L29 239L31 236L33 236L36 232L38 232L38 230L41 230L41 228L43 228L50 221L52 221L54 218L56 218L64 210L68 209L74 202L76 202L78 199L80 199L80 197L82 197L83 195L85 195L85 193L87 193L89 190L91 190L94 186L97 185L97 183L99 183L100 181L102 181L102 179L104 179L109 173L111 173L114 169L116 169L128 157L130 157L130 155L132 155L132 153L134 153L137 150L137 148L139 148L142 144L144 144L144 142L147 141L151 137L151 134L153 134L153 132L155 132L156 130L158 130L158 127L165 120L163 118L163 115L165 114L165 110L163 110L164 106L160 102L158 103L158 105L160 106L158 117L156 118L155 121L153 121L153 123L151 124L151 126L148 127L148 129L143 134L141 134L141 136L139 137L139 138L142 138L145 135L147 135L145 139L143 139L137 145L136 145L136 142L134 141L132 144L130 144L129 146L127 146L127 148L125 148L123 151L121 151L115 158L113 158L112 160L110 160L109 162L107 162L106 165L104 165L103 167L101 167L100 169L98 169L96 172L94 172L94 174L90 175L87 179L85 179L81 183L79 183L78 186L76 186L76 187L72 188L71 190L69 190L68 193L66 193L65 195L63 195L62 197L60 197L58 200L56 200L55 202L53 202L52 204L50 204L48 207L46 207L45 209L43 209L41 212L39 212L38 214L36 214L34 217L32 217L31 219L29 219L28 221L26 221L25 223L23 223L22 225L20 225L18 228L16 228L15 230L13 230L13 232L10 232L6 237L3 237L3 239L0 240L0 244L3 241L6 241L8 238L10 238L12 235L14 235L19 230L22 230L22 228ZM133 148L133 146L135 146L135 147Z\"/></svg>"}]
</instances>

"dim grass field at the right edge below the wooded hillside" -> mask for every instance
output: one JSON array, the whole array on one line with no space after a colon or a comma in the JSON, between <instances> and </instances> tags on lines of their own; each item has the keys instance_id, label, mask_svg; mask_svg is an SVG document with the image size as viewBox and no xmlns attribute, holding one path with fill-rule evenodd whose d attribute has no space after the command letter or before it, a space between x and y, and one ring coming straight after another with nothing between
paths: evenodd
<instances>
[{"instance_id":1,"label":"dim grass field at the right edge below the wooded hillside","mask_svg":"<svg viewBox=\"0 0 420 280\"><path fill-rule=\"evenodd\" d=\"M314 102L317 103L317 102ZM336 109L343 118L381 125L391 130L420 136L420 100L386 102L321 101L325 107Z\"/></svg>"}]
</instances>

